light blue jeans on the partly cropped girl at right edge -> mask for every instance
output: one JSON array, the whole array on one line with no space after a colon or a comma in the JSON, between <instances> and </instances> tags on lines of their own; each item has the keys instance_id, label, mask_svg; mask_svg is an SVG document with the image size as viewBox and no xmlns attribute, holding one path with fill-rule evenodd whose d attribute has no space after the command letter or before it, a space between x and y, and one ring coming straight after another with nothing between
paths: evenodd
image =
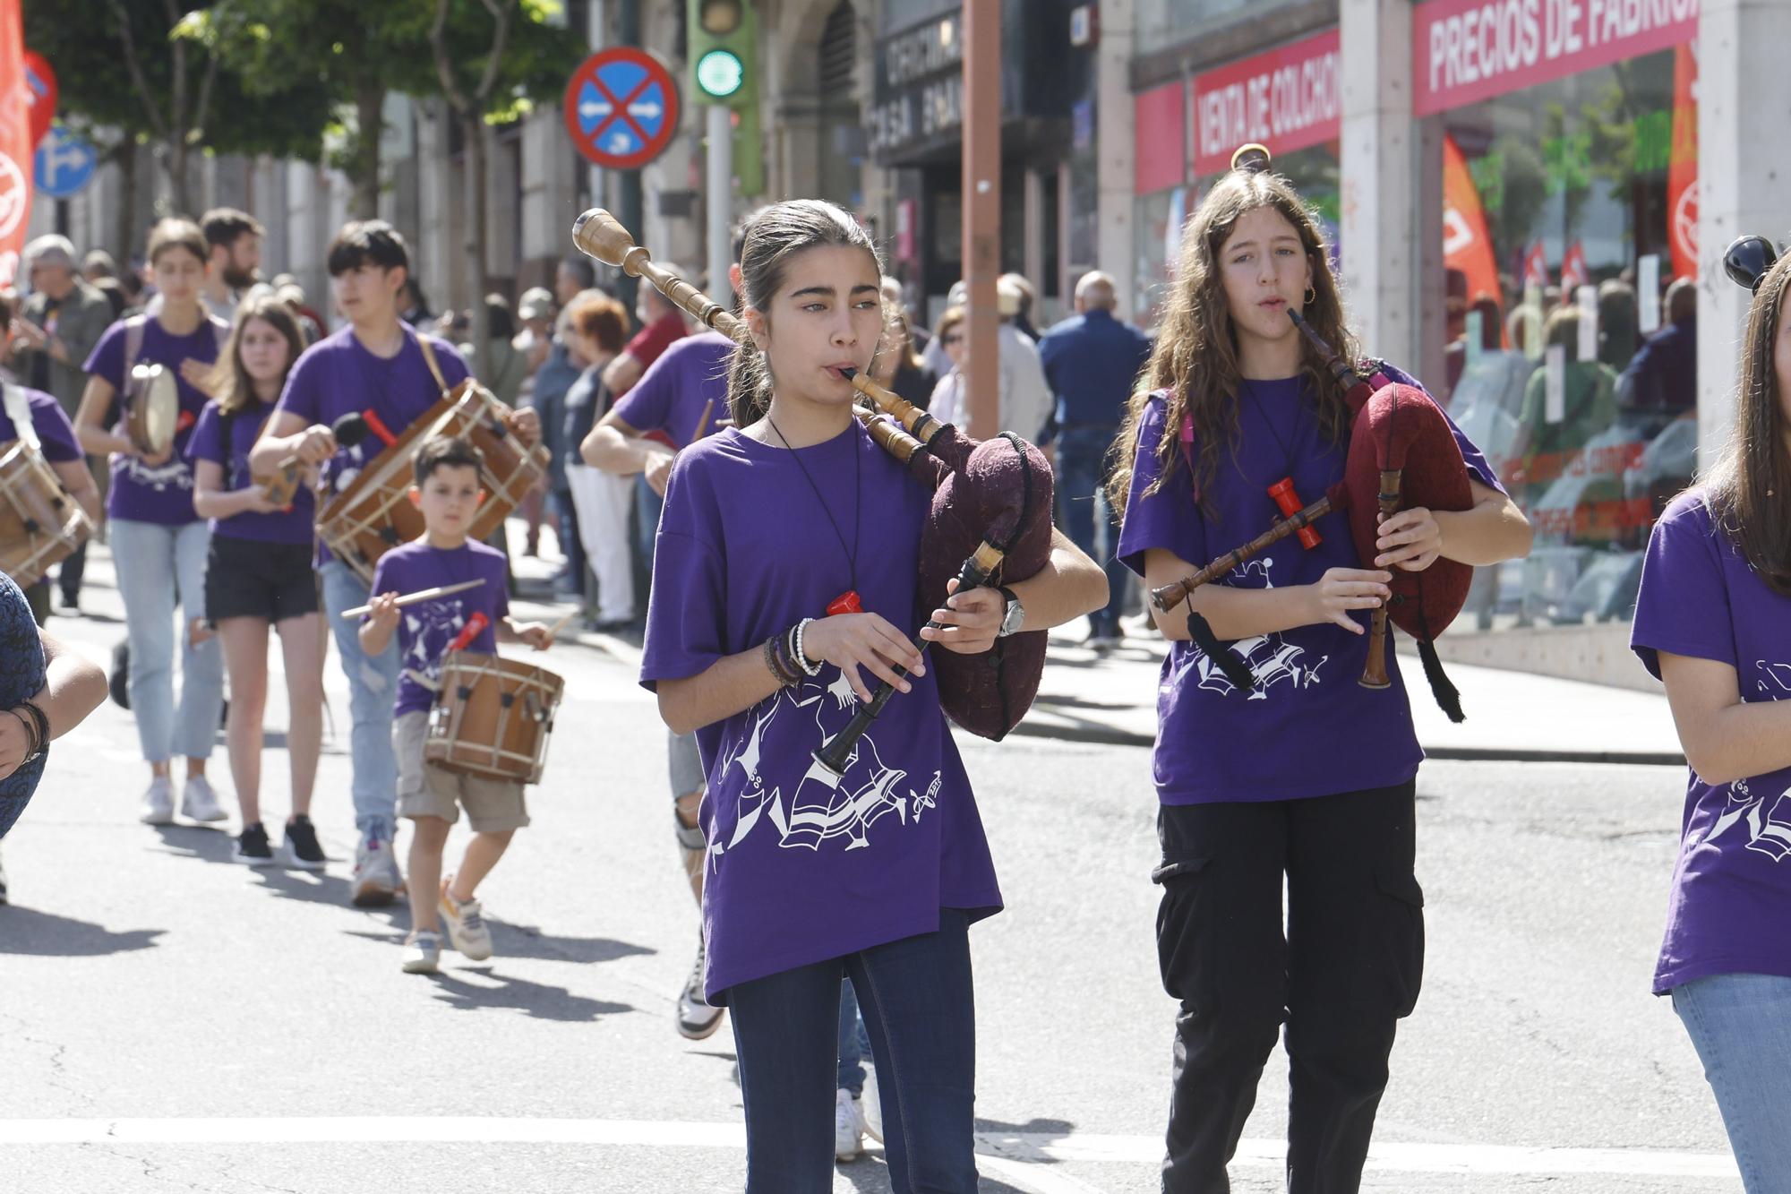
<instances>
[{"instance_id":1,"label":"light blue jeans on the partly cropped girl at right edge","mask_svg":"<svg viewBox=\"0 0 1791 1194\"><path fill-rule=\"evenodd\" d=\"M1791 979L1714 973L1673 988L1748 1194L1791 1190Z\"/></svg>"}]
</instances>

